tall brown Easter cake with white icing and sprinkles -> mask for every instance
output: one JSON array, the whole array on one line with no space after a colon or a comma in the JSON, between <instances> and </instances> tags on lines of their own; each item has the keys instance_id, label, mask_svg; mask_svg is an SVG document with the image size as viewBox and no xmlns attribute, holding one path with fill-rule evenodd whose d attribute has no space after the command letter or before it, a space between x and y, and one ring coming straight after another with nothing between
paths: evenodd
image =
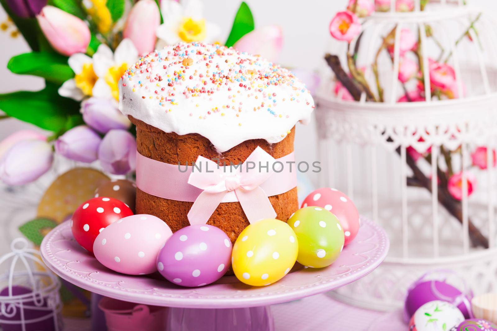
<instances>
[{"instance_id":1,"label":"tall brown Easter cake with white icing and sprinkles","mask_svg":"<svg viewBox=\"0 0 497 331\"><path fill-rule=\"evenodd\" d=\"M295 124L314 102L289 70L220 45L180 43L142 57L120 82L120 110L136 125L139 156L170 165L199 156L238 164L261 147L278 159L293 152ZM294 170L295 171L295 170ZM175 232L189 225L192 201L165 199L140 187L136 213L152 214ZM269 196L276 218L298 209L297 189ZM221 202L207 224L232 242L248 226L240 202Z\"/></svg>"}]
</instances>

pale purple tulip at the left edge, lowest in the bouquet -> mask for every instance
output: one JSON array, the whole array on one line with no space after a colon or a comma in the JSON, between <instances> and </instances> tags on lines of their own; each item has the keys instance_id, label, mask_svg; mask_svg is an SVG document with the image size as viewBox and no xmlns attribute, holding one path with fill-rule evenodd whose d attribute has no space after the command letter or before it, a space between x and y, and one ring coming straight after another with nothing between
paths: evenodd
<instances>
[{"instance_id":1,"label":"pale purple tulip at the left edge, lowest in the bouquet","mask_svg":"<svg viewBox=\"0 0 497 331\"><path fill-rule=\"evenodd\" d=\"M32 182L52 166L52 146L39 139L14 144L0 161L0 179L7 185Z\"/></svg>"}]
</instances>

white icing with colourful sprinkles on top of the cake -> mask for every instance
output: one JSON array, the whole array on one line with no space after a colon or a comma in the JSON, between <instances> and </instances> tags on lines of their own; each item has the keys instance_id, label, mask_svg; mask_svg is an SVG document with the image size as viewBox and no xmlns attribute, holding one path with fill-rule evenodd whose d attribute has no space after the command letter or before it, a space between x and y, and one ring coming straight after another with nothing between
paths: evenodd
<instances>
[{"instance_id":1,"label":"white icing with colourful sprinkles on top of the cake","mask_svg":"<svg viewBox=\"0 0 497 331\"><path fill-rule=\"evenodd\" d=\"M198 133L218 151L249 139L283 140L314 101L289 70L220 45L167 46L119 83L119 108L165 132Z\"/></svg>"}]
</instances>

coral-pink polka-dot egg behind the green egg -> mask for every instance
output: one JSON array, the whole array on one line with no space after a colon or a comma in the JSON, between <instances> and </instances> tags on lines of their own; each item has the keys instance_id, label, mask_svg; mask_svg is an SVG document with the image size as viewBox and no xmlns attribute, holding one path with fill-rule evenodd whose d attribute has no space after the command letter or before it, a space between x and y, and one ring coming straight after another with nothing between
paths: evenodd
<instances>
[{"instance_id":1,"label":"coral-pink polka-dot egg behind the green egg","mask_svg":"<svg viewBox=\"0 0 497 331\"><path fill-rule=\"evenodd\" d=\"M331 211L340 221L348 245L359 232L359 212L349 197L336 189L322 188L312 192L302 202L302 207L317 206Z\"/></svg>"}]
</instances>

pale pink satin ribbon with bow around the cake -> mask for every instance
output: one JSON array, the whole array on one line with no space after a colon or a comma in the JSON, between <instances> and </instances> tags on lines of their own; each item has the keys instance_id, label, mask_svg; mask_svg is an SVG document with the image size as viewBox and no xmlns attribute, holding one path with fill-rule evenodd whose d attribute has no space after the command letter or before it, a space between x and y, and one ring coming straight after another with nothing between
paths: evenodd
<instances>
[{"instance_id":1,"label":"pale pink satin ribbon with bow around the cake","mask_svg":"<svg viewBox=\"0 0 497 331\"><path fill-rule=\"evenodd\" d=\"M248 169L249 162L250 167ZM280 172L273 172L272 165ZM274 218L268 197L290 191L297 186L294 153L274 159L257 147L240 168L218 166L199 156L196 167L169 164L137 153L136 184L150 195L178 201L194 202L188 212L190 224L205 224L221 202L239 201L250 223L262 218ZM259 164L268 165L259 171ZM198 170L199 166L201 171Z\"/></svg>"}]
</instances>

